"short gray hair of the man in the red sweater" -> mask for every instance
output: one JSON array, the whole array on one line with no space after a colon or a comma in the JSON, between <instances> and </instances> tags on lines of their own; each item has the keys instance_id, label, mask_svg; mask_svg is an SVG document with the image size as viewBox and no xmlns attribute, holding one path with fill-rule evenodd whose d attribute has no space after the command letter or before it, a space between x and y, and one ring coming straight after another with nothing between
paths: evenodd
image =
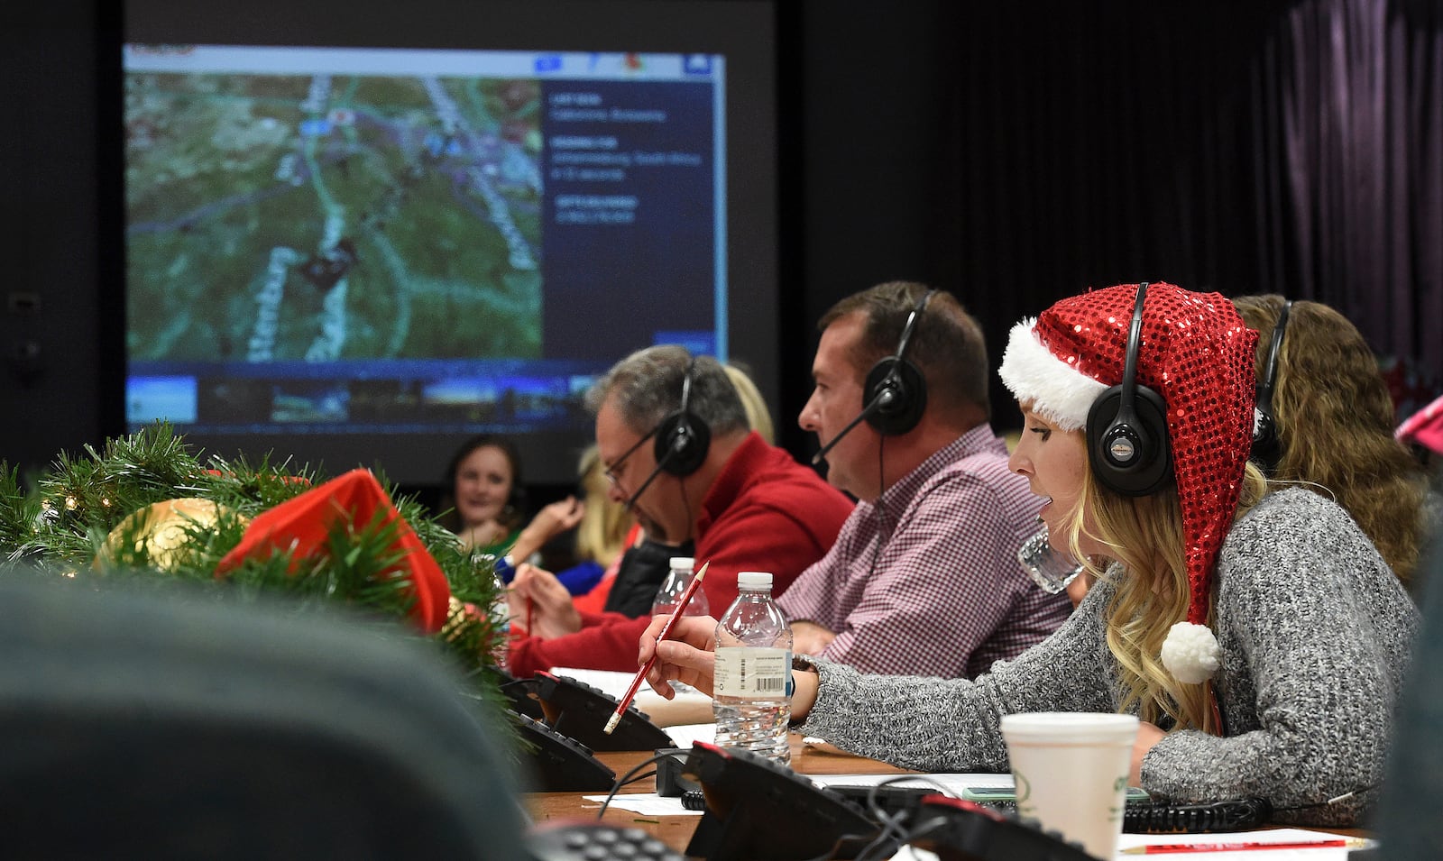
<instances>
[{"instance_id":1,"label":"short gray hair of the man in the red sweater","mask_svg":"<svg viewBox=\"0 0 1443 861\"><path fill-rule=\"evenodd\" d=\"M742 405L726 368L711 356L693 356L677 345L651 346L612 365L590 391L586 408L593 414L610 401L626 427L651 433L662 418L681 408L681 389L691 368L687 408L707 423L713 434L747 430Z\"/></svg>"}]
</instances>

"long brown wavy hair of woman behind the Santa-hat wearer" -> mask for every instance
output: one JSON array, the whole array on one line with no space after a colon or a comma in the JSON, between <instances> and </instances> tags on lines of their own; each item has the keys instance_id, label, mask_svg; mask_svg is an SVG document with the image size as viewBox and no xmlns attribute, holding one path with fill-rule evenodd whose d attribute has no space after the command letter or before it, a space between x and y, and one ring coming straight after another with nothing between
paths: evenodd
<instances>
[{"instance_id":1,"label":"long brown wavy hair of woman behind the Santa-hat wearer","mask_svg":"<svg viewBox=\"0 0 1443 861\"><path fill-rule=\"evenodd\" d=\"M1260 381L1284 303L1276 294L1232 300L1260 333ZM1408 584L1426 534L1427 474L1392 436L1394 405L1377 356L1332 307L1293 301L1278 349L1273 418L1280 450L1273 482L1326 489Z\"/></svg>"}]
</instances>

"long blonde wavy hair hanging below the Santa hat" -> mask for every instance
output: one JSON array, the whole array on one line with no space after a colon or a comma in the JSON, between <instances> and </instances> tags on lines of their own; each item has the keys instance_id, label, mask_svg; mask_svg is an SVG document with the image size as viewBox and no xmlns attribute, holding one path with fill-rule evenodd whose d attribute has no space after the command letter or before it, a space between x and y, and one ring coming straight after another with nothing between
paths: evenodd
<instances>
[{"instance_id":1,"label":"long blonde wavy hair hanging below the Santa hat","mask_svg":"<svg viewBox=\"0 0 1443 861\"><path fill-rule=\"evenodd\" d=\"M1266 492L1267 479L1248 463L1234 519L1257 505ZM1085 521L1082 512L1088 512ZM1087 573L1092 577L1108 574L1101 560L1082 554L1084 538L1108 548L1105 555L1121 565L1115 593L1104 610L1107 648L1117 659L1123 688L1118 711L1128 712L1136 705L1144 721L1156 724L1170 717L1179 730L1221 733L1209 684L1179 682L1160 658L1169 629L1188 619L1190 596L1177 487L1152 496L1120 496L1098 485L1088 469L1078 505L1062 529L1072 557L1087 560ZM1209 597L1209 626L1211 604Z\"/></svg>"}]
</instances>

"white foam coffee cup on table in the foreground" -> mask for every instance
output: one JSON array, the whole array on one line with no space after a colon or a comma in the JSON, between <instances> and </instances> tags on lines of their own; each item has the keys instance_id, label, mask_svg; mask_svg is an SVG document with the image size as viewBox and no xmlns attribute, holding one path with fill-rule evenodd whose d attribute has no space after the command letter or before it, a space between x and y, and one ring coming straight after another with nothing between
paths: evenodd
<instances>
[{"instance_id":1,"label":"white foam coffee cup on table in the foreground","mask_svg":"<svg viewBox=\"0 0 1443 861\"><path fill-rule=\"evenodd\" d=\"M1128 714L1030 712L1001 718L1017 815L1111 861L1123 834L1127 773L1137 740Z\"/></svg>"}]
</instances>

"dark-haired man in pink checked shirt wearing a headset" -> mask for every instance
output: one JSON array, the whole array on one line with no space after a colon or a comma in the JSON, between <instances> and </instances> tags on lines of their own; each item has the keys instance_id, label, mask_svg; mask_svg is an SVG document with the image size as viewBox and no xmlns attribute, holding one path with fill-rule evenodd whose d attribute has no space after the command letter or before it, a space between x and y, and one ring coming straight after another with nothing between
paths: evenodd
<instances>
[{"instance_id":1,"label":"dark-haired man in pink checked shirt wearing a headset","mask_svg":"<svg viewBox=\"0 0 1443 861\"><path fill-rule=\"evenodd\" d=\"M798 418L860 502L778 604L794 650L863 672L975 676L1042 640L1065 594L1017 561L1042 499L988 425L981 329L945 291L889 283L828 310Z\"/></svg>"}]
</instances>

